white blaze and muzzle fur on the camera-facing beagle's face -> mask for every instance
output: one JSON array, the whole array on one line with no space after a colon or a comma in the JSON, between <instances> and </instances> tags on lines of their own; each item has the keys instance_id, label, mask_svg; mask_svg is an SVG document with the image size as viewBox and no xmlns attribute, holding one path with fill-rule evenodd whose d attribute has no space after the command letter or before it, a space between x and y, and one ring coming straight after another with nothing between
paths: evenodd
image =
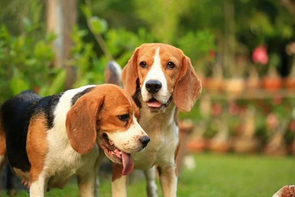
<instances>
[{"instance_id":1,"label":"white blaze and muzzle fur on the camera-facing beagle's face","mask_svg":"<svg viewBox=\"0 0 295 197\"><path fill-rule=\"evenodd\" d=\"M160 102L167 102L167 100L169 98L167 98L168 95L168 89L167 89L167 81L164 75L164 72L162 70L162 65L161 65L161 57L160 57L160 47L158 47L155 51L155 55L153 57L154 61L153 64L150 68L150 70L148 71L148 75L144 81L143 87L142 87L142 96L143 99L147 99L148 98L148 91L146 89L146 83L148 80L157 80L159 82L161 82L162 84L162 88L161 90L159 90L159 92L157 93L157 99L159 99ZM147 100L146 100L147 101Z\"/></svg>"}]
</instances>

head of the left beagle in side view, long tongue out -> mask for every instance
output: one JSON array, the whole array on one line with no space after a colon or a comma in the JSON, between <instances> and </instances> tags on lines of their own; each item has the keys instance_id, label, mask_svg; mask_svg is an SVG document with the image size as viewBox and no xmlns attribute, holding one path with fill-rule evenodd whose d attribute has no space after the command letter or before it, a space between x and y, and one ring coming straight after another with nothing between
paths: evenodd
<instances>
[{"instance_id":1,"label":"head of the left beagle in side view, long tongue out","mask_svg":"<svg viewBox=\"0 0 295 197\"><path fill-rule=\"evenodd\" d=\"M70 108L66 132L75 151L89 153L97 142L109 159L123 164L127 174L133 169L131 153L149 142L138 118L139 109L127 92L116 85L99 85Z\"/></svg>"}]
</instances>

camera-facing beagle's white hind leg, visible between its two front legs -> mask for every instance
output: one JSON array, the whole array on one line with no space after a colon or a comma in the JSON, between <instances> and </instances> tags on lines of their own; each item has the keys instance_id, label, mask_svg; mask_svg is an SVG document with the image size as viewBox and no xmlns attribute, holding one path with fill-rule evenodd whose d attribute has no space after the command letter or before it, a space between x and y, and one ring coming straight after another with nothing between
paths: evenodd
<instances>
[{"instance_id":1,"label":"camera-facing beagle's white hind leg, visible between its two front legs","mask_svg":"<svg viewBox=\"0 0 295 197\"><path fill-rule=\"evenodd\" d=\"M156 178L156 168L155 165L147 170L144 170L147 179L147 193L148 197L158 196L158 187L155 181Z\"/></svg>"}]
</instances>

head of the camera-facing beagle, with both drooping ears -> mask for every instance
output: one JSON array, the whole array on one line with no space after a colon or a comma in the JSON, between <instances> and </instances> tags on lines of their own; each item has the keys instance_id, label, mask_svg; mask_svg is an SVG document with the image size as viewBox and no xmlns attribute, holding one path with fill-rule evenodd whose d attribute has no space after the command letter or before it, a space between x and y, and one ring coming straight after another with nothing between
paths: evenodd
<instances>
[{"instance_id":1,"label":"head of the camera-facing beagle, with both drooping ears","mask_svg":"<svg viewBox=\"0 0 295 197\"><path fill-rule=\"evenodd\" d=\"M167 44L143 44L122 71L125 90L137 99L141 92L150 113L162 113L173 101L190 111L202 86L191 61L180 49Z\"/></svg>"}]
</instances>

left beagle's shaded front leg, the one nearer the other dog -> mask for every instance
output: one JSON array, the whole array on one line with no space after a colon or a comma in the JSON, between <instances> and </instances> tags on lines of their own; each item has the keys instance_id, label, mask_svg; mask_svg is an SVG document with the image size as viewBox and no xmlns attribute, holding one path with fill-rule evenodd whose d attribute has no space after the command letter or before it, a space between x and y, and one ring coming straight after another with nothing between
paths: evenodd
<instances>
[{"instance_id":1,"label":"left beagle's shaded front leg, the one nearer the other dog","mask_svg":"<svg viewBox=\"0 0 295 197\"><path fill-rule=\"evenodd\" d=\"M95 178L94 171L77 175L78 188L81 197L94 197Z\"/></svg>"}]
</instances>

